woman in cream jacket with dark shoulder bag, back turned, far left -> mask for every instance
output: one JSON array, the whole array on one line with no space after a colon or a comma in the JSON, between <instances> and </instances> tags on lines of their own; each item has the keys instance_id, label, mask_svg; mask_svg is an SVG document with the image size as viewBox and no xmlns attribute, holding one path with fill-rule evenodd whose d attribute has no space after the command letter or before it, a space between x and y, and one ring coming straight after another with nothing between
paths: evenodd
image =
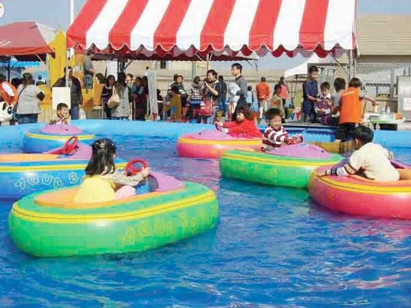
<instances>
[{"instance_id":1,"label":"woman in cream jacket with dark shoulder bag, back turned, far left","mask_svg":"<svg viewBox=\"0 0 411 308\"><path fill-rule=\"evenodd\" d=\"M18 86L17 113L20 115L20 124L37 123L40 114L40 101L45 99L45 94L34 86L33 76L23 74L23 84Z\"/></svg>"}]
</instances>

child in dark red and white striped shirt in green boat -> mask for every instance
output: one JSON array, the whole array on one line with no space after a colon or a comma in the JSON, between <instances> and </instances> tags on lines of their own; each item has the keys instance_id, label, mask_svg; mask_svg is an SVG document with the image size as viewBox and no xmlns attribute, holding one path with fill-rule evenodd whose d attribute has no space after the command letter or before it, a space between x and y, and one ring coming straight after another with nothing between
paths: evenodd
<instances>
[{"instance_id":1,"label":"child in dark red and white striped shirt in green boat","mask_svg":"<svg viewBox=\"0 0 411 308\"><path fill-rule=\"evenodd\" d=\"M279 109L270 109L267 111L266 117L269 125L264 129L264 135L262 136L262 152L272 151L284 143L297 144L303 141L299 135L292 138L288 136L288 132L282 126L282 113Z\"/></svg>"}]
</instances>

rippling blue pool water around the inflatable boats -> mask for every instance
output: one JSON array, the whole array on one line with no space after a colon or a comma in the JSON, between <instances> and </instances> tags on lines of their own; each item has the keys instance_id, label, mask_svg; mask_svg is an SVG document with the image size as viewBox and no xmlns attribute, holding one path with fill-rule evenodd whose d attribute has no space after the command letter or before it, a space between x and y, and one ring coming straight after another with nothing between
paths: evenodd
<instances>
[{"instance_id":1,"label":"rippling blue pool water around the inflatable boats","mask_svg":"<svg viewBox=\"0 0 411 308\"><path fill-rule=\"evenodd\" d=\"M411 221L338 214L305 190L219 178L175 140L113 138L119 156L208 185L216 229L145 253L36 259L0 201L0 307L411 307ZM411 163L409 149L395 149ZM10 149L18 151L18 149Z\"/></svg>"}]
</instances>

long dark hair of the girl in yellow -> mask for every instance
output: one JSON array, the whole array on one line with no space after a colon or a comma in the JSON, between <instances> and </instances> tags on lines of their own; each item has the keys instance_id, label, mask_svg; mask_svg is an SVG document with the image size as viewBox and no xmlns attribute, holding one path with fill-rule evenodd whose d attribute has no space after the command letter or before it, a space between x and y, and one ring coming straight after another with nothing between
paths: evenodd
<instances>
[{"instance_id":1,"label":"long dark hair of the girl in yellow","mask_svg":"<svg viewBox=\"0 0 411 308\"><path fill-rule=\"evenodd\" d=\"M114 164L114 154L116 146L108 138L96 140L91 145L92 155L86 167L86 175L103 175L114 173L116 166Z\"/></svg>"}]
</instances>

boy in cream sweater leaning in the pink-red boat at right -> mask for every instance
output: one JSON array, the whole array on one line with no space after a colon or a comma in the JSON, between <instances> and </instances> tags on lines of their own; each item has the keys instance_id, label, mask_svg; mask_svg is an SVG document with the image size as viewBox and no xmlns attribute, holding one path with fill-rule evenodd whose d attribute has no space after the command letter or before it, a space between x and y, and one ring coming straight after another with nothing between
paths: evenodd
<instances>
[{"instance_id":1,"label":"boy in cream sweater leaning in the pink-red boat at right","mask_svg":"<svg viewBox=\"0 0 411 308\"><path fill-rule=\"evenodd\" d=\"M323 175L360 175L375 181L397 181L399 172L391 164L393 153L373 143L373 131L359 126L353 131L355 151L349 162L340 168L325 170Z\"/></svg>"}]
</instances>

